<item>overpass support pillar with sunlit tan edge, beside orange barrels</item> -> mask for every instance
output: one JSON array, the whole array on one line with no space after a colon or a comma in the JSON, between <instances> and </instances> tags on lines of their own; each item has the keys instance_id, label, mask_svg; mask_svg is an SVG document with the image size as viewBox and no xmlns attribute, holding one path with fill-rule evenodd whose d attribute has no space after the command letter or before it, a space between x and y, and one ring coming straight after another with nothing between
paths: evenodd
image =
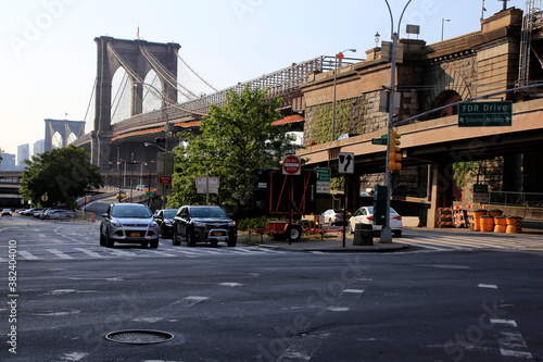
<instances>
[{"instance_id":1,"label":"overpass support pillar with sunlit tan edge, beside orange barrels","mask_svg":"<svg viewBox=\"0 0 543 362\"><path fill-rule=\"evenodd\" d=\"M430 167L430 210L428 210L428 228L438 226L438 208L453 205L454 172L451 163L433 163Z\"/></svg>"}]
</instances>

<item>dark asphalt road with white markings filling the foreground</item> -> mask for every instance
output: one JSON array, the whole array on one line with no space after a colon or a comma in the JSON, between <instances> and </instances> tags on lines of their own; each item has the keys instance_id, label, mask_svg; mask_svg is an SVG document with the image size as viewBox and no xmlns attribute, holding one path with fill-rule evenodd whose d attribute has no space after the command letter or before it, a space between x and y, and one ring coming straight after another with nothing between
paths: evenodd
<instances>
[{"instance_id":1,"label":"dark asphalt road with white markings filling the foreground","mask_svg":"<svg viewBox=\"0 0 543 362\"><path fill-rule=\"evenodd\" d=\"M543 359L541 252L106 249L97 224L21 216L0 232L1 361ZM124 329L174 338L105 339Z\"/></svg>"}]
</instances>

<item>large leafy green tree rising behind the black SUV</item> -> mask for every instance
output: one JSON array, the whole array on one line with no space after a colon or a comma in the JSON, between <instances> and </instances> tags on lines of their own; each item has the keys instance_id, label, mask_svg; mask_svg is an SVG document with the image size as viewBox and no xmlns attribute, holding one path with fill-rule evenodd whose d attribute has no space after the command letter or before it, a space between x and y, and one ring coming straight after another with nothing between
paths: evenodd
<instances>
[{"instance_id":1,"label":"large leafy green tree rising behind the black SUV","mask_svg":"<svg viewBox=\"0 0 543 362\"><path fill-rule=\"evenodd\" d=\"M212 105L202 121L200 136L181 134L186 147L176 148L173 195L169 205L202 203L195 177L219 177L218 200L240 204L252 196L252 172L279 166L292 137L285 126L272 123L280 117L281 100L266 99L266 90L245 87L229 91L226 104Z\"/></svg>"}]
</instances>

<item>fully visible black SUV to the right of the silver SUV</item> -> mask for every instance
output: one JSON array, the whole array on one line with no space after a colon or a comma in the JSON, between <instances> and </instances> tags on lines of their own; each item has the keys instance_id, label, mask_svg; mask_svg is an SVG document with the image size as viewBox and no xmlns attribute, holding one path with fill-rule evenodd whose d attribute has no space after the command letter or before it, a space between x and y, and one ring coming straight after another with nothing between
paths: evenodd
<instances>
[{"instance_id":1,"label":"fully visible black SUV to the right of the silver SUV","mask_svg":"<svg viewBox=\"0 0 543 362\"><path fill-rule=\"evenodd\" d=\"M216 247L218 241L226 241L235 247L238 240L236 222L219 207L182 207L174 217L175 246L184 239L189 247L198 241L210 242Z\"/></svg>"}]
</instances>

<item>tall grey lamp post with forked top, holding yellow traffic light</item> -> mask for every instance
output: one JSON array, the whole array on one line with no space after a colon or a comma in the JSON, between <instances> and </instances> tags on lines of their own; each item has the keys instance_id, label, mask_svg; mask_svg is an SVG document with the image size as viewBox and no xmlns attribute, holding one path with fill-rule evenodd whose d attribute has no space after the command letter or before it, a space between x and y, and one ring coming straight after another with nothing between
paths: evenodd
<instances>
[{"instance_id":1,"label":"tall grey lamp post with forked top, holding yellow traffic light","mask_svg":"<svg viewBox=\"0 0 543 362\"><path fill-rule=\"evenodd\" d=\"M384 161L384 184L387 187L387 208L384 210L384 225L381 229L380 242L392 242L392 230L390 228L390 188L391 188L391 173L389 172L389 157L390 157L390 148L392 145L391 130L393 128L394 122L394 92L396 89L396 51L397 51L397 40L400 38L400 26L402 24L402 18L404 16L405 10L412 2L412 0L407 1L404 10L402 11L402 15L400 16L400 22L397 23L397 32L394 32L394 16L392 15L392 10L390 9L389 0L384 0L387 3L387 8L389 8L390 14L390 34L392 36L392 54L391 54L391 65L390 65L390 95L389 95L389 122L387 125L388 132L388 145L387 145L387 158ZM395 146L395 145L394 145Z\"/></svg>"}]
</instances>

